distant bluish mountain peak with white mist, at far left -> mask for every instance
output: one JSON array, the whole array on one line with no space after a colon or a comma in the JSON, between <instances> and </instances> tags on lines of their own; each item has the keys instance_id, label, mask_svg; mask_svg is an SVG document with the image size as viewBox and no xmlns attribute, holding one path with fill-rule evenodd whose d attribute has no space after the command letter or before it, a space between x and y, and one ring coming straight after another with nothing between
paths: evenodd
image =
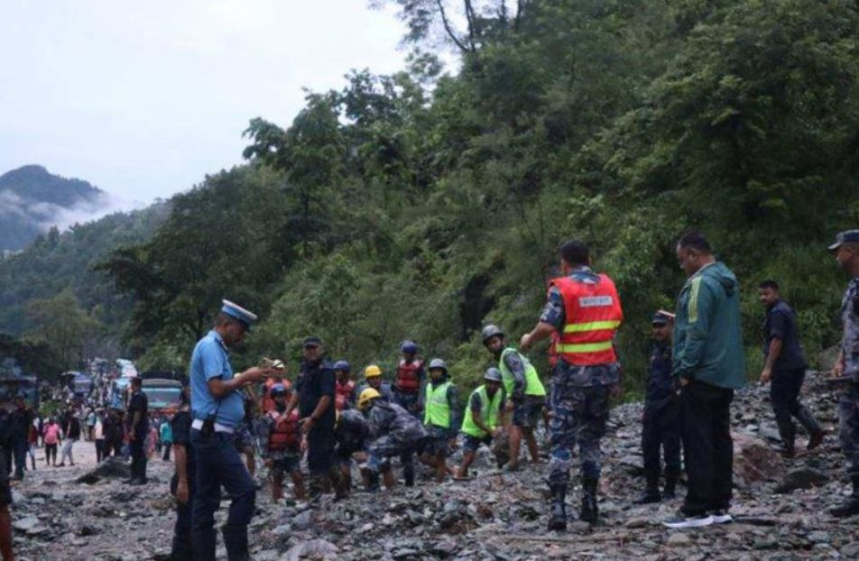
<instances>
[{"instance_id":1,"label":"distant bluish mountain peak with white mist, at far left","mask_svg":"<svg viewBox=\"0 0 859 561\"><path fill-rule=\"evenodd\" d=\"M81 179L27 165L0 176L0 253L18 251L51 225L65 228L108 205L104 191Z\"/></svg>"}]
</instances>

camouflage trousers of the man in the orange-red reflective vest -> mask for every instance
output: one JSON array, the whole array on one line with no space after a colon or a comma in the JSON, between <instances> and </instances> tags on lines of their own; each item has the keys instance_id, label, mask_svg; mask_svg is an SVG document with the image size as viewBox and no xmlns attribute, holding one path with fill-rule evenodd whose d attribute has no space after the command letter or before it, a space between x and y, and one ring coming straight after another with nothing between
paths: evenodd
<instances>
[{"instance_id":1,"label":"camouflage trousers of the man in the orange-red reflective vest","mask_svg":"<svg viewBox=\"0 0 859 561\"><path fill-rule=\"evenodd\" d=\"M568 483L576 446L581 455L582 477L599 477L602 459L599 444L608 420L610 392L611 384L575 386L565 384L557 374L552 380L550 486Z\"/></svg>"}]
</instances>

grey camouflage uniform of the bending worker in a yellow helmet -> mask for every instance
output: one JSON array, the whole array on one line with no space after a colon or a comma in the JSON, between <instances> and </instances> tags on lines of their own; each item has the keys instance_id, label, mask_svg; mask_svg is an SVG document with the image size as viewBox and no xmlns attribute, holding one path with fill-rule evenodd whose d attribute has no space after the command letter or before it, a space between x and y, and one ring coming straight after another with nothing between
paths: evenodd
<instances>
[{"instance_id":1,"label":"grey camouflage uniform of the bending worker in a yellow helmet","mask_svg":"<svg viewBox=\"0 0 859 561\"><path fill-rule=\"evenodd\" d=\"M427 429L409 411L396 403L376 400L368 413L370 442L367 469L378 473L389 458L400 456L406 479L414 475L414 454L428 438Z\"/></svg>"}]
</instances>

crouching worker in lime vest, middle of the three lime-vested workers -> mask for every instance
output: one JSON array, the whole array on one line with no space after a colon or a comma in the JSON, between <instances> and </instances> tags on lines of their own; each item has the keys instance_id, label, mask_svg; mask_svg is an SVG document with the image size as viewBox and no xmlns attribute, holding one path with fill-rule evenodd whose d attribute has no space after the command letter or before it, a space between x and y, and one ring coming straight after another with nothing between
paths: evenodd
<instances>
[{"instance_id":1,"label":"crouching worker in lime vest, middle of the three lime-vested workers","mask_svg":"<svg viewBox=\"0 0 859 561\"><path fill-rule=\"evenodd\" d=\"M477 448L481 444L491 446L492 439L501 434L503 402L502 373L497 368L489 368L484 374L483 385L471 392L463 414L462 464L457 471L457 479L468 477L468 467L475 461Z\"/></svg>"}]
</instances>

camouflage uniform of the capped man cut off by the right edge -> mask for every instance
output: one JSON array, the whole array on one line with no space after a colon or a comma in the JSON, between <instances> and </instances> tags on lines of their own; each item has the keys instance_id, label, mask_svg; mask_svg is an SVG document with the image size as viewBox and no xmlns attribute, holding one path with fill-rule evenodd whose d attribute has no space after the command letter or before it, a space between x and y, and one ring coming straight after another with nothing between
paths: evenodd
<instances>
[{"instance_id":1,"label":"camouflage uniform of the capped man cut off by the right edge","mask_svg":"<svg viewBox=\"0 0 859 561\"><path fill-rule=\"evenodd\" d=\"M847 472L859 478L859 278L850 281L841 302L844 322L844 375L853 378L838 400L838 427Z\"/></svg>"}]
</instances>

